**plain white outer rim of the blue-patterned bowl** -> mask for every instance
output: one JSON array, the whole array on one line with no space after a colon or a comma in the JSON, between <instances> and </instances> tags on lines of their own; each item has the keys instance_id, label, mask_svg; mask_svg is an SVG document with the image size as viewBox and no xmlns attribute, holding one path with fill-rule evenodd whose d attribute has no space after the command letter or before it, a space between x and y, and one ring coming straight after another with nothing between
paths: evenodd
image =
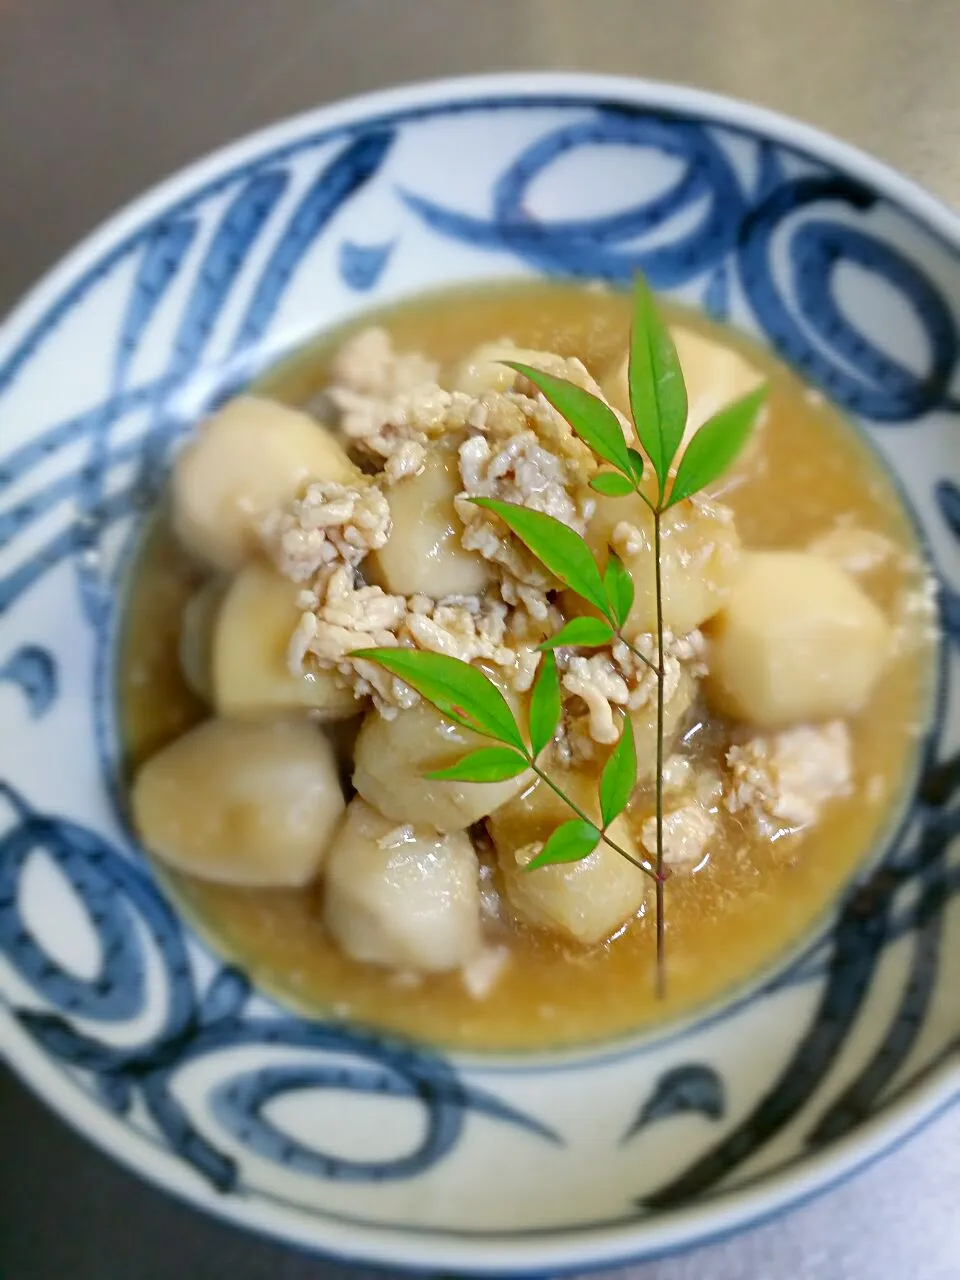
<instances>
[{"instance_id":1,"label":"plain white outer rim of the blue-patterned bowl","mask_svg":"<svg viewBox=\"0 0 960 1280\"><path fill-rule=\"evenodd\" d=\"M51 302L76 282L82 268L116 247L146 220L195 193L205 178L224 174L266 150L378 118L404 115L440 102L489 99L492 102L540 100L545 105L609 104L648 108L680 118L703 119L771 141L854 174L901 212L960 256L960 215L919 183L861 148L768 108L663 81L581 72L511 72L458 76L401 83L307 109L250 132L150 186L109 215L68 250L9 312L0 316L0 349L23 347L29 358L31 332ZM266 1201L220 1199L173 1153L146 1148L140 1134L79 1091L67 1073L24 1032L0 1044L3 1059L19 1080L74 1130L146 1181L237 1226L332 1260L367 1262L394 1270L436 1267L470 1275L552 1275L590 1267L649 1261L718 1242L780 1212L799 1207L845 1181L905 1143L960 1100L960 1057L947 1052L902 1096L820 1152L791 1162L740 1189L719 1192L708 1202L669 1213L637 1217L628 1225L470 1235L417 1229L372 1228L332 1221L306 1208ZM148 1151L148 1158L145 1153ZM317 1230L317 1226L320 1230ZM476 1260L471 1260L476 1254Z\"/></svg>"}]
</instances>

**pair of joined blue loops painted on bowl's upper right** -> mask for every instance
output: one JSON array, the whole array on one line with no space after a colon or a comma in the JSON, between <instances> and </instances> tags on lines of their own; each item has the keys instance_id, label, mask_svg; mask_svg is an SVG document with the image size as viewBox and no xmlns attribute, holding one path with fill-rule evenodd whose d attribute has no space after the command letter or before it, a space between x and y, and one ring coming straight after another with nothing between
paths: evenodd
<instances>
[{"instance_id":1,"label":"pair of joined blue loops painted on bowl's upper right","mask_svg":"<svg viewBox=\"0 0 960 1280\"><path fill-rule=\"evenodd\" d=\"M735 257L760 332L837 403L878 424L913 421L938 406L956 407L951 380L957 329L936 283L888 241L840 219L804 216L813 210L824 214L837 204L867 212L876 197L835 174L785 178L768 145L762 148L751 197L714 132L690 122L602 111L595 119L556 129L524 151L495 183L489 219L408 191L403 198L438 234L506 250L548 274L628 283L643 271L662 289L707 275L704 306L717 319L727 316L724 264ZM617 214L562 221L534 216L527 193L552 164L579 148L605 146L653 148L680 160L682 174L664 193ZM681 215L700 204L704 211L687 228ZM675 225L678 229L671 236ZM655 233L654 243L644 247L643 237L650 233ZM785 294L773 261L781 234L788 237L792 297ZM913 372L877 347L844 314L835 292L844 262L883 280L911 308L928 346L923 372Z\"/></svg>"}]
</instances>

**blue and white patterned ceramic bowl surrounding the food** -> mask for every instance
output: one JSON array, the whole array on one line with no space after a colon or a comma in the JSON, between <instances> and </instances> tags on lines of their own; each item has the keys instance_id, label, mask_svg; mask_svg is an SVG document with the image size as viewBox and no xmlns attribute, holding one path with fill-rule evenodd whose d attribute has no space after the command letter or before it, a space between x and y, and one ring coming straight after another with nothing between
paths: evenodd
<instances>
[{"instance_id":1,"label":"blue and white patterned ceramic bowl surrounding the food","mask_svg":"<svg viewBox=\"0 0 960 1280\"><path fill-rule=\"evenodd\" d=\"M628 280L758 335L891 462L941 576L915 801L781 972L608 1052L470 1060L308 1021L168 905L123 820L118 582L170 451L316 329L428 285ZM818 1190L960 1083L960 223L801 125L580 76L396 90L164 183L0 330L0 1048L193 1204L330 1253L544 1271Z\"/></svg>"}]
</instances>

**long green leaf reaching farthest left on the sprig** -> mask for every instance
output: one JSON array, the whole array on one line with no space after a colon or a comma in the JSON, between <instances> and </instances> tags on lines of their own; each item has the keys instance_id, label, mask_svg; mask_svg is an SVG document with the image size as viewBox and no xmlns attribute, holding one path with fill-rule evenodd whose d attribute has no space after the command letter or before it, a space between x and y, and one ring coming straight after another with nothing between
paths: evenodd
<instances>
[{"instance_id":1,"label":"long green leaf reaching farthest left on the sprig","mask_svg":"<svg viewBox=\"0 0 960 1280\"><path fill-rule=\"evenodd\" d=\"M506 698L476 667L424 649L355 649L351 658L385 667L457 724L526 750Z\"/></svg>"}]
</instances>

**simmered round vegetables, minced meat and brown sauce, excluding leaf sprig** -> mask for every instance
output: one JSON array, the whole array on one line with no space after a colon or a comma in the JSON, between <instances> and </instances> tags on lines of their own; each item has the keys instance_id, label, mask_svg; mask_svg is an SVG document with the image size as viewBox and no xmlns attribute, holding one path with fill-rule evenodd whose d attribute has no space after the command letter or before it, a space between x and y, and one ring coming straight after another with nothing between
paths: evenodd
<instances>
[{"instance_id":1,"label":"simmered round vegetables, minced meat and brown sauce, excluding leaf sprig","mask_svg":"<svg viewBox=\"0 0 960 1280\"><path fill-rule=\"evenodd\" d=\"M895 813L924 723L932 594L899 495L820 396L666 308L684 443L767 384L742 453L662 520L521 362L628 417L630 300L570 284L435 294L323 339L200 424L132 576L120 707L132 810L184 909L306 1009L480 1050L582 1043L744 983L827 908ZM649 472L649 467L648 467ZM369 658L476 664L524 721L581 599L494 512L580 534L631 580L625 639L557 650L532 769L436 780L484 740ZM626 812L530 868L628 722ZM662 788L658 841L657 791ZM655 964L663 855L668 972Z\"/></svg>"}]
</instances>

